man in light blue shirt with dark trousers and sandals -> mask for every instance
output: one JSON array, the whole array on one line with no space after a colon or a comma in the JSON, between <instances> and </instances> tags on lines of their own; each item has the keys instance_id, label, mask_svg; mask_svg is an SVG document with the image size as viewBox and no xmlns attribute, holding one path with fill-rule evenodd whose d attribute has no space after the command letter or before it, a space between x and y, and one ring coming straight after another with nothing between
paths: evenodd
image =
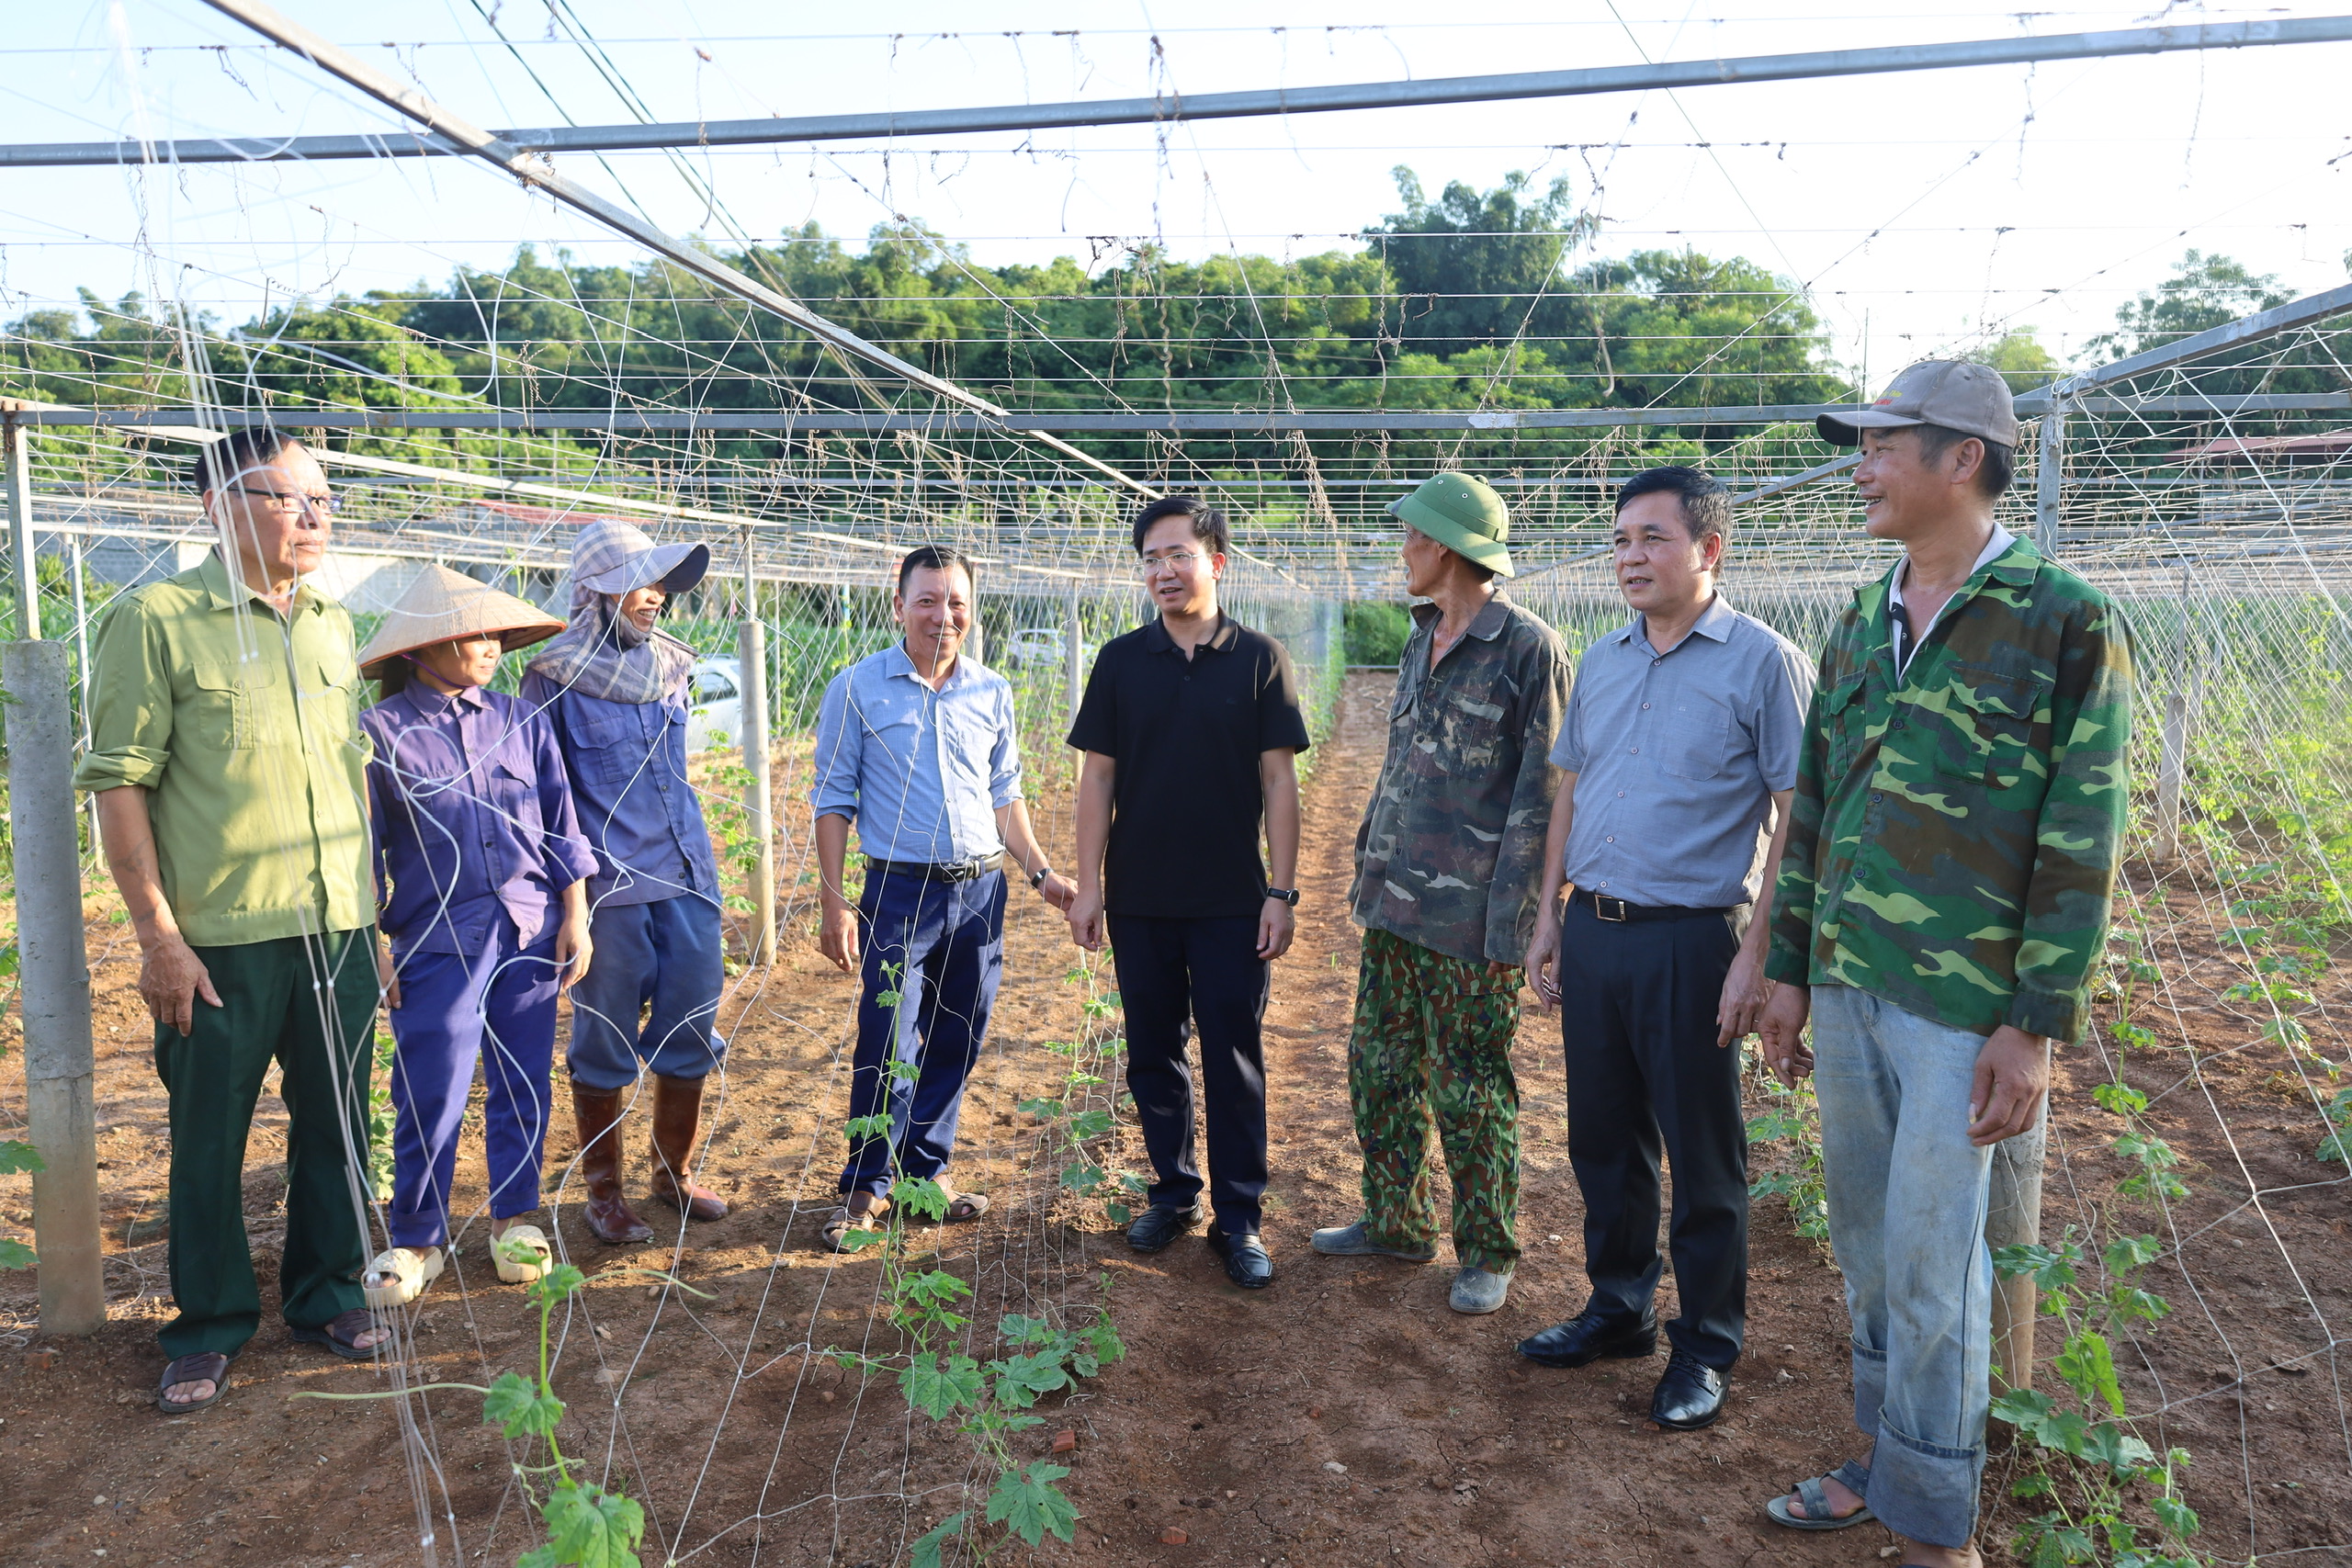
<instances>
[{"instance_id":1,"label":"man in light blue shirt with dark trousers and sandals","mask_svg":"<svg viewBox=\"0 0 2352 1568\"><path fill-rule=\"evenodd\" d=\"M938 1180L950 1220L985 1213L983 1194L943 1173L1004 973L1004 858L1056 910L1077 896L1030 832L1014 691L962 654L978 614L971 564L948 545L910 550L891 614L906 637L826 686L809 790L816 945L866 983L842 1208L826 1222L844 1251L873 1237L898 1175ZM842 884L851 825L866 853L854 905Z\"/></svg>"}]
</instances>

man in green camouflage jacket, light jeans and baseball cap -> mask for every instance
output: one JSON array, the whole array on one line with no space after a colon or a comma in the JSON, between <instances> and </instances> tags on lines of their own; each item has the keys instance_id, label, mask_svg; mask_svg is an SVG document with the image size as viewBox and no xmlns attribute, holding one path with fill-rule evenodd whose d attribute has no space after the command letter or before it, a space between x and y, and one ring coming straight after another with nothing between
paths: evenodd
<instances>
[{"instance_id":1,"label":"man in green camouflage jacket, light jeans and baseball cap","mask_svg":"<svg viewBox=\"0 0 2352 1568\"><path fill-rule=\"evenodd\" d=\"M1978 364L1905 369L1860 444L1872 536L1905 557L1830 632L1766 973L1764 1056L1820 1098L1830 1241L1865 1460L1769 1512L1872 1514L1905 1563L1973 1568L1985 1458L1992 1145L2039 1124L2049 1041L2086 1025L2124 827L2119 611L1994 524L2016 414ZM1811 1013L1811 1051L1799 1032Z\"/></svg>"}]
</instances>

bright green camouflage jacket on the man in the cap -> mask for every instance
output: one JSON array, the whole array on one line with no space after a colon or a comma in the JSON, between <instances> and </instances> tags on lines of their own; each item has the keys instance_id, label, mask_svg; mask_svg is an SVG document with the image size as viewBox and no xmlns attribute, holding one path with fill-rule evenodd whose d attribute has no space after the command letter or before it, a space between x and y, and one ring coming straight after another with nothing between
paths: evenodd
<instances>
[{"instance_id":1,"label":"bright green camouflage jacket on the man in the cap","mask_svg":"<svg viewBox=\"0 0 2352 1568\"><path fill-rule=\"evenodd\" d=\"M1766 973L2072 1041L2124 832L2131 632L2018 541L1896 677L1886 583L1820 656Z\"/></svg>"}]
</instances>

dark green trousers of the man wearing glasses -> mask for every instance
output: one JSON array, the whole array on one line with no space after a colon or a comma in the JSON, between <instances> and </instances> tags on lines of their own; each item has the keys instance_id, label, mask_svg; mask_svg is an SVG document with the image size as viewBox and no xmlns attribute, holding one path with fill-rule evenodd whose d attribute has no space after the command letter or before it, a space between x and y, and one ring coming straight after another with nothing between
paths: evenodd
<instances>
[{"instance_id":1,"label":"dark green trousers of the man wearing glasses","mask_svg":"<svg viewBox=\"0 0 2352 1568\"><path fill-rule=\"evenodd\" d=\"M198 947L221 1006L195 999L195 1032L155 1027L172 1095L172 1298L165 1354L245 1349L261 1326L245 1239L245 1135L278 1063L287 1105L287 1244L278 1302L294 1328L365 1307L367 1079L376 1027L376 933ZM341 1119L339 1119L341 1112Z\"/></svg>"}]
</instances>

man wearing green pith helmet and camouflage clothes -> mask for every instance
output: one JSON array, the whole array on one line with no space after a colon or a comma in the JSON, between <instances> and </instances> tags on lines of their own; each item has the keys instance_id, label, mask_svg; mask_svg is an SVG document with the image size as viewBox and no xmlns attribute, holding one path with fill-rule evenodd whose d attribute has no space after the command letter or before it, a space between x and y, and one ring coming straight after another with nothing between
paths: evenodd
<instances>
[{"instance_id":1,"label":"man wearing green pith helmet and camouflage clothes","mask_svg":"<svg viewBox=\"0 0 2352 1568\"><path fill-rule=\"evenodd\" d=\"M1364 1218L1315 1232L1343 1258L1437 1255L1430 1121L1454 1182L1456 1312L1494 1312L1519 1262L1519 961L1536 926L1569 698L1559 635L1512 604L1510 510L1444 473L1388 505L1404 524L1414 635L1388 705L1388 759L1355 839L1364 926L1348 1098Z\"/></svg>"}]
</instances>

